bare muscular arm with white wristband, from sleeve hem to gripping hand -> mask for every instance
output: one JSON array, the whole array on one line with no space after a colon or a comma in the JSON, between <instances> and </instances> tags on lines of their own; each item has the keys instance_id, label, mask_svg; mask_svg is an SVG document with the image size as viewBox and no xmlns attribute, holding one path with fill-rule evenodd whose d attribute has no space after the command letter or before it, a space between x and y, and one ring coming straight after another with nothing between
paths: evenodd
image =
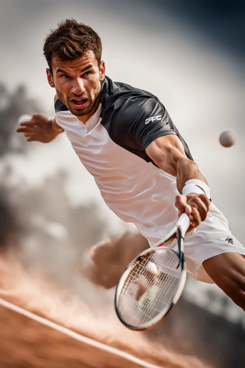
<instances>
[{"instance_id":1,"label":"bare muscular arm with white wristband, from sleeve hem to gripping hand","mask_svg":"<svg viewBox=\"0 0 245 368\"><path fill-rule=\"evenodd\" d=\"M158 167L176 177L180 195L177 195L175 205L179 215L187 213L191 227L198 226L208 213L209 187L197 164L185 155L179 137L169 134L156 138L145 152Z\"/></svg>"}]
</instances>

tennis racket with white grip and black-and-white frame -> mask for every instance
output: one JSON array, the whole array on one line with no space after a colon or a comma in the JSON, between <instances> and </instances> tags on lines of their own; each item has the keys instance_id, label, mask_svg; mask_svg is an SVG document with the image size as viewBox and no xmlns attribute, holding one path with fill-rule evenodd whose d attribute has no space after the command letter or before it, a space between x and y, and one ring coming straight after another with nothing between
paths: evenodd
<instances>
[{"instance_id":1,"label":"tennis racket with white grip and black-and-white frame","mask_svg":"<svg viewBox=\"0 0 245 368\"><path fill-rule=\"evenodd\" d=\"M147 330L165 317L184 289L184 236L190 226L183 213L173 230L127 266L116 287L115 308L120 321L133 330ZM177 237L178 251L163 246Z\"/></svg>"}]
</instances>

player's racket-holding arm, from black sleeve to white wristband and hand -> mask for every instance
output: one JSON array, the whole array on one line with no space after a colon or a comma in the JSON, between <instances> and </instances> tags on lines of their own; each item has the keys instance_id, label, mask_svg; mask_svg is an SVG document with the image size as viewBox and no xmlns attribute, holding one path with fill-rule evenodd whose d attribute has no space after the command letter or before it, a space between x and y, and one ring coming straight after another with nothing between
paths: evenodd
<instances>
[{"instance_id":1,"label":"player's racket-holding arm, from black sleeve to white wristband and hand","mask_svg":"<svg viewBox=\"0 0 245 368\"><path fill-rule=\"evenodd\" d=\"M176 177L179 215L187 213L191 227L198 226L208 213L210 190L167 110L150 96L123 98L121 106L114 114L114 134L123 145L145 151L158 167Z\"/></svg>"}]
</instances>

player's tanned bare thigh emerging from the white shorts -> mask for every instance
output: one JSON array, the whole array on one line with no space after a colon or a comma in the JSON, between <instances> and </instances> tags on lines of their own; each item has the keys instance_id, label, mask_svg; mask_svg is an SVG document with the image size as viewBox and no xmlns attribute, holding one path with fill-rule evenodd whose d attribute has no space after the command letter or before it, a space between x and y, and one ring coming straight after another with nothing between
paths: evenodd
<instances>
[{"instance_id":1,"label":"player's tanned bare thigh emerging from the white shorts","mask_svg":"<svg viewBox=\"0 0 245 368\"><path fill-rule=\"evenodd\" d=\"M223 253L206 259L202 265L216 285L245 311L245 256Z\"/></svg>"}]
</instances>

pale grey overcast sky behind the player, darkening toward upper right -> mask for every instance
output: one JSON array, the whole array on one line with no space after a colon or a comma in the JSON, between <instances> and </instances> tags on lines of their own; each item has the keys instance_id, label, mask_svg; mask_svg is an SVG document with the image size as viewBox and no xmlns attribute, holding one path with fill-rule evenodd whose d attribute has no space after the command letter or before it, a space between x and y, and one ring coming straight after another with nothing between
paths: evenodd
<instances>
[{"instance_id":1,"label":"pale grey overcast sky behind the player, darkening toward upper right","mask_svg":"<svg viewBox=\"0 0 245 368\"><path fill-rule=\"evenodd\" d=\"M234 235L240 241L244 238L243 53L239 42L232 47L232 37L224 42L221 32L223 27L226 35L225 24L235 24L234 19L225 23L220 16L222 22L212 20L205 27L202 17L199 27L195 14L191 18L191 13L187 17L180 11L179 1L174 1L179 4L176 12L169 1L1 0L0 4L0 81L10 89L24 83L43 112L53 114L54 90L46 81L43 39L65 18L92 26L102 39L107 75L159 97L208 179L213 202L227 216ZM215 30L213 24L220 27ZM229 34L237 39L233 31ZM234 147L219 145L224 130L237 135ZM54 167L65 167L71 174L67 190L73 201L95 198L103 215L118 223L65 137L50 145L32 145L27 160L12 159L16 176L25 176L32 185L41 183Z\"/></svg>"}]
</instances>

